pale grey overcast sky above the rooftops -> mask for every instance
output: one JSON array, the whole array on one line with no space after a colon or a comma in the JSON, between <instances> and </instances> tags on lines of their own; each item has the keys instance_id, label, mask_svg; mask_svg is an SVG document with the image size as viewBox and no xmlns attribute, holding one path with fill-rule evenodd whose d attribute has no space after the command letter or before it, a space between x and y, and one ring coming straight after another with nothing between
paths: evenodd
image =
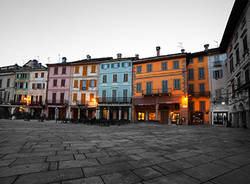
<instances>
[{"instance_id":1,"label":"pale grey overcast sky above the rooftops","mask_svg":"<svg viewBox=\"0 0 250 184\"><path fill-rule=\"evenodd\" d=\"M0 0L0 66L219 46L234 0Z\"/></svg>"}]
</instances>

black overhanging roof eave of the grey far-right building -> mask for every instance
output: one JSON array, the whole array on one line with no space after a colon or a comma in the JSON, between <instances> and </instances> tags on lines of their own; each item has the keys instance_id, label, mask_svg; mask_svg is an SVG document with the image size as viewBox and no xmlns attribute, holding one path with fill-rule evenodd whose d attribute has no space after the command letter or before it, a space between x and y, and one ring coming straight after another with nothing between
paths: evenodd
<instances>
[{"instance_id":1,"label":"black overhanging roof eave of the grey far-right building","mask_svg":"<svg viewBox=\"0 0 250 184\"><path fill-rule=\"evenodd\" d=\"M229 19L227 21L227 25L220 43L220 50L222 52L225 52L227 49L227 45L229 44L231 37L234 33L234 30L237 26L237 23L243 13L243 10L246 8L247 3L249 2L249 0L236 0L231 14L229 16Z\"/></svg>"}]
</instances>

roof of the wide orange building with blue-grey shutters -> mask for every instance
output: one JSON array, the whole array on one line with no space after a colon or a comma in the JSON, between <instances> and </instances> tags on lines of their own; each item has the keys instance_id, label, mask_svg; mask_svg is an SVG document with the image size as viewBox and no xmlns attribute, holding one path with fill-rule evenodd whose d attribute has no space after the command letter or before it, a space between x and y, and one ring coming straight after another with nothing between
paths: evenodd
<instances>
[{"instance_id":1,"label":"roof of the wide orange building with blue-grey shutters","mask_svg":"<svg viewBox=\"0 0 250 184\"><path fill-rule=\"evenodd\" d=\"M147 63L147 62L156 62L156 61L162 61L162 60L168 60L168 59L185 58L186 56L187 56L187 53L176 53L176 54L142 58L142 59L138 59L138 60L133 61L133 63L139 64L139 63Z\"/></svg>"}]
</instances>

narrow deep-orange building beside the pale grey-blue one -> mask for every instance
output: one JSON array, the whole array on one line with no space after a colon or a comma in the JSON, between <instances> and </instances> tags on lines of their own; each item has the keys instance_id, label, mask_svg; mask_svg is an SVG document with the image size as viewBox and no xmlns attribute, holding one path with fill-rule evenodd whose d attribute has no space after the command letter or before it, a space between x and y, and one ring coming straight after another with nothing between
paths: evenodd
<instances>
[{"instance_id":1,"label":"narrow deep-orange building beside the pale grey-blue one","mask_svg":"<svg viewBox=\"0 0 250 184\"><path fill-rule=\"evenodd\" d=\"M208 73L208 49L188 55L187 79L189 99L189 124L209 124L210 90Z\"/></svg>"}]
</instances>

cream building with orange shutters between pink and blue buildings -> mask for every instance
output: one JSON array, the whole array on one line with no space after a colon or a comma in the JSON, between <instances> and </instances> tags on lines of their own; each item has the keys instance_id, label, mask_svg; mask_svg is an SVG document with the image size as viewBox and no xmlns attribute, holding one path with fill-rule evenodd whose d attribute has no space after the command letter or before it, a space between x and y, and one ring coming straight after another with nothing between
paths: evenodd
<instances>
[{"instance_id":1,"label":"cream building with orange shutters between pink and blue buildings","mask_svg":"<svg viewBox=\"0 0 250 184\"><path fill-rule=\"evenodd\" d=\"M112 59L95 58L71 62L72 77L70 90L71 118L83 119L98 116L99 63ZM97 112L97 113L96 113Z\"/></svg>"}]
</instances>

